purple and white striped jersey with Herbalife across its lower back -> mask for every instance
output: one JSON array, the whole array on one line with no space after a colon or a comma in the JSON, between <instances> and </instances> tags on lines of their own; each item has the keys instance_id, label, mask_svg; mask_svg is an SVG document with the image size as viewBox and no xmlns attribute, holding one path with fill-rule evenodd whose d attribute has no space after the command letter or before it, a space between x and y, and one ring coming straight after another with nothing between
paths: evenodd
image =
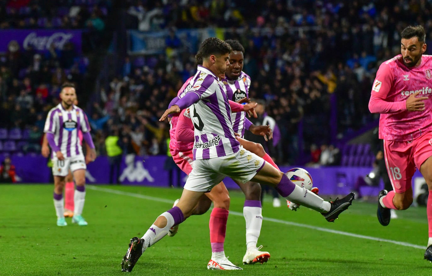
<instances>
[{"instance_id":1,"label":"purple and white striped jersey with Herbalife across its lower back","mask_svg":"<svg viewBox=\"0 0 432 276\"><path fill-rule=\"evenodd\" d=\"M231 107L219 78L209 69L198 66L197 73L179 97L195 93L200 97L190 107L194 124L194 160L210 159L236 153L240 143L231 124Z\"/></svg>"}]
</instances>

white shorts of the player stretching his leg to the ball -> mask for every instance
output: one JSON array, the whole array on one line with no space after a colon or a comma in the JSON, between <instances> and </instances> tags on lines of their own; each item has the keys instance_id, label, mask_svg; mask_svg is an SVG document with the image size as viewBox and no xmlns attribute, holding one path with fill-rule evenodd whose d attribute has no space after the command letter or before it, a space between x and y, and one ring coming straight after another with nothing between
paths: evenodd
<instances>
[{"instance_id":1,"label":"white shorts of the player stretching his leg to the ball","mask_svg":"<svg viewBox=\"0 0 432 276\"><path fill-rule=\"evenodd\" d=\"M184 188L189 191L210 191L226 176L245 183L251 180L264 164L264 159L240 146L240 150L235 154L194 160L192 172Z\"/></svg>"}]
</instances>

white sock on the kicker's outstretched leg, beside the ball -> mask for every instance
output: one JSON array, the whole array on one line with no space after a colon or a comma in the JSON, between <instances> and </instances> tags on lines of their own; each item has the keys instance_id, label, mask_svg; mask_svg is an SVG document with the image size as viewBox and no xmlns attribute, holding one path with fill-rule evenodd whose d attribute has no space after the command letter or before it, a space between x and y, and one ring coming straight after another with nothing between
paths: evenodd
<instances>
[{"instance_id":1,"label":"white sock on the kicker's outstretched leg, beside the ball","mask_svg":"<svg viewBox=\"0 0 432 276\"><path fill-rule=\"evenodd\" d=\"M331 204L306 188L295 185L294 191L286 197L287 200L301 204L320 213L330 211Z\"/></svg>"}]
</instances>

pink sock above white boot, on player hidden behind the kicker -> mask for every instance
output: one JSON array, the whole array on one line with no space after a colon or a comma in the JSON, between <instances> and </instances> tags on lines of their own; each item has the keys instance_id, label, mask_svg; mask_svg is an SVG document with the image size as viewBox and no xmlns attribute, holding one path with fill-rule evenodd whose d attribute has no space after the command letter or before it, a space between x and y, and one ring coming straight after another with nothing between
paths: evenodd
<instances>
[{"instance_id":1,"label":"pink sock above white boot, on player hidden behind the kicker","mask_svg":"<svg viewBox=\"0 0 432 276\"><path fill-rule=\"evenodd\" d=\"M222 252L225 242L226 221L228 220L228 210L213 208L210 214L210 244L212 252Z\"/></svg>"}]
</instances>

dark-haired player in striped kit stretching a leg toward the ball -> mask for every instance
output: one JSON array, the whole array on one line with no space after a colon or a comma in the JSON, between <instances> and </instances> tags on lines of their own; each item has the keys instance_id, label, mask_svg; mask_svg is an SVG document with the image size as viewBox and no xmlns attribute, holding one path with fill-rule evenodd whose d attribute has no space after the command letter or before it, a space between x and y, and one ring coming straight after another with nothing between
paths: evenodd
<instances>
[{"instance_id":1,"label":"dark-haired player in striped kit stretching a leg toward the ball","mask_svg":"<svg viewBox=\"0 0 432 276\"><path fill-rule=\"evenodd\" d=\"M354 194L350 193L334 202L324 201L311 191L295 185L284 173L240 146L232 129L228 99L218 78L229 65L231 51L231 46L219 38L203 41L200 46L203 65L198 66L192 85L159 119L163 121L171 113L191 108L195 127L194 167L178 204L162 213L142 238L130 240L122 260L122 271L132 271L146 248L167 235L172 226L191 216L200 197L226 176L239 182L252 180L271 185L284 198L320 212L330 222L336 220L354 200Z\"/></svg>"}]
</instances>

